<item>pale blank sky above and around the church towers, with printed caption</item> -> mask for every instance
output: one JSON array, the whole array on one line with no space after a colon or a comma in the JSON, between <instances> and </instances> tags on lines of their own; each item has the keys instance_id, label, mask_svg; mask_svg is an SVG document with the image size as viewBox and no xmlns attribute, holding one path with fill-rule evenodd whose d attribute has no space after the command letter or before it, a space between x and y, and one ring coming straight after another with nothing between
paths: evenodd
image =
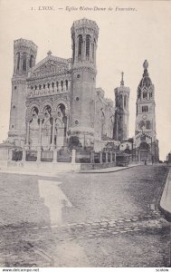
<instances>
[{"instance_id":1,"label":"pale blank sky above and around the church towers, with printed caption","mask_svg":"<svg viewBox=\"0 0 171 272\"><path fill-rule=\"evenodd\" d=\"M160 160L166 160L171 151L170 8L170 1L0 0L0 142L9 127L14 40L24 38L38 45L36 63L49 50L71 58L71 24L86 17L100 28L96 87L114 101L123 71L130 88L129 137L135 133L137 88L147 59L155 85Z\"/></svg>"}]
</instances>

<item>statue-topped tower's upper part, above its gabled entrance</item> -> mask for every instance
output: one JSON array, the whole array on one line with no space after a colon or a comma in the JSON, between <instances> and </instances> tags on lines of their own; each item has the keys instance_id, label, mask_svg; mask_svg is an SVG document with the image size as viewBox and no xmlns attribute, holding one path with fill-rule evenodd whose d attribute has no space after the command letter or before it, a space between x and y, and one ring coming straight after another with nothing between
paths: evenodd
<instances>
[{"instance_id":1,"label":"statue-topped tower's upper part, above its gabled entrance","mask_svg":"<svg viewBox=\"0 0 171 272\"><path fill-rule=\"evenodd\" d=\"M146 132L152 140L156 140L155 116L155 87L147 73L147 60L143 63L144 73L138 84L136 135L140 131Z\"/></svg>"}]
</instances>

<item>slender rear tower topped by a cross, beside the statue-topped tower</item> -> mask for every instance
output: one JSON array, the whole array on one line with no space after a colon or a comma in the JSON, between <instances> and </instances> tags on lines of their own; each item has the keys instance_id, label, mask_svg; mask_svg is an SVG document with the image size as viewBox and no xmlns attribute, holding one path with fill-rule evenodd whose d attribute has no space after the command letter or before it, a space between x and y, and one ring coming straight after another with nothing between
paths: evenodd
<instances>
[{"instance_id":1,"label":"slender rear tower topped by a cross, beside the statue-topped tower","mask_svg":"<svg viewBox=\"0 0 171 272\"><path fill-rule=\"evenodd\" d=\"M123 72L121 73L120 86L114 90L115 92L115 124L114 124L114 140L124 141L128 139L128 101L130 89L124 86Z\"/></svg>"}]
</instances>

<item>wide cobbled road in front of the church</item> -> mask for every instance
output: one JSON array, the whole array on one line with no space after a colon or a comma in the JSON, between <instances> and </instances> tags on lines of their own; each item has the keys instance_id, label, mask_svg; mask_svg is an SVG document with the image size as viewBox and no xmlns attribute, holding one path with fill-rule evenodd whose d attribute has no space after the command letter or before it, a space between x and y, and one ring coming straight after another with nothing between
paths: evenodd
<instances>
[{"instance_id":1,"label":"wide cobbled road in front of the church","mask_svg":"<svg viewBox=\"0 0 171 272\"><path fill-rule=\"evenodd\" d=\"M168 267L167 168L0 174L0 267Z\"/></svg>"}]
</instances>

